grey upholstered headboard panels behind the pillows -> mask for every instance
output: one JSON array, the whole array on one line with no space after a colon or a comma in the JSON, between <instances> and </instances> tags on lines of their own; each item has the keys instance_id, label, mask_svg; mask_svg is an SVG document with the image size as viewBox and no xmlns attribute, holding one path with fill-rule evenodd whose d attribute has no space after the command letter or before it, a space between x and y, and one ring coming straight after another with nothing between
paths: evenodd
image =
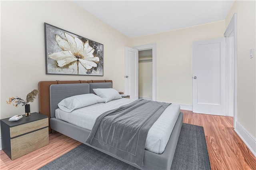
<instances>
[{"instance_id":1,"label":"grey upholstered headboard panels behind the pillows","mask_svg":"<svg viewBox=\"0 0 256 170\"><path fill-rule=\"evenodd\" d=\"M94 93L92 89L112 88L112 83L76 83L76 84L55 84L50 85L50 115L55 117L55 110L58 103L67 97ZM94 93L95 94L95 93Z\"/></svg>"}]
</instances>

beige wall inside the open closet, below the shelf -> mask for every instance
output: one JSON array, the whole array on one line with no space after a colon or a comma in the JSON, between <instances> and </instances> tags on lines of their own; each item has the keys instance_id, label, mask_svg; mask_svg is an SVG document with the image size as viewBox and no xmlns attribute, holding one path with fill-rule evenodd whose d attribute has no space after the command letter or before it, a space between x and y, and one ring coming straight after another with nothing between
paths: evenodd
<instances>
[{"instance_id":1,"label":"beige wall inside the open closet, below the shelf","mask_svg":"<svg viewBox=\"0 0 256 170\"><path fill-rule=\"evenodd\" d=\"M139 97L152 99L152 62L139 63Z\"/></svg>"}]
</instances>

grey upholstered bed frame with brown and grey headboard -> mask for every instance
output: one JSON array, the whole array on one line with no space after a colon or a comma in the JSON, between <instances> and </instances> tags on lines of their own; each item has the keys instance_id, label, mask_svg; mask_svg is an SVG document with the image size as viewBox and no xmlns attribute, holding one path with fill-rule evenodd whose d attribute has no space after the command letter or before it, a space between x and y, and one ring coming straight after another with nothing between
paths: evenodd
<instances>
[{"instance_id":1,"label":"grey upholstered bed frame with brown and grey headboard","mask_svg":"<svg viewBox=\"0 0 256 170\"><path fill-rule=\"evenodd\" d=\"M90 144L86 143L91 128L82 127L81 125L76 125L76 123L68 122L68 118L60 120L58 116L58 103L70 96L94 93L92 89L97 88L112 88L112 81L41 81L38 83L39 93L39 105L40 113L47 115L50 118L50 130L60 132L66 136L74 138L88 146ZM47 99L49 97L49 99ZM116 105L120 103L129 103L131 99L117 99ZM98 103L97 103L98 104ZM104 103L98 105L105 105ZM121 105L121 104L120 104ZM172 107L175 107L174 105ZM93 109L93 106L92 106ZM78 109L77 109L78 110ZM166 109L167 110L167 109ZM56 115L57 113L57 115ZM164 114L164 113L163 113ZM56 118L58 117L58 119ZM63 117L63 116L62 116ZM65 116L64 116L65 117ZM160 118L159 118L160 119ZM156 152L150 150L150 148L145 148L143 166L138 167L131 162L128 162L120 157L115 156L109 152L101 150L95 146L91 146L97 150L100 150L110 156L113 156L119 160L122 160L132 166L140 169L170 169L172 160L174 157L174 152L178 142L178 136L180 134L180 129L182 126L183 114L178 113L177 119L174 121L173 130L170 134L170 138L167 137L167 144L164 146L163 152ZM74 121L75 122L75 121ZM168 136L168 135L167 135ZM148 139L147 139L148 140ZM152 147L151 147L152 148ZM155 148L155 147L153 147ZM156 149L158 150L158 149Z\"/></svg>"}]
</instances>

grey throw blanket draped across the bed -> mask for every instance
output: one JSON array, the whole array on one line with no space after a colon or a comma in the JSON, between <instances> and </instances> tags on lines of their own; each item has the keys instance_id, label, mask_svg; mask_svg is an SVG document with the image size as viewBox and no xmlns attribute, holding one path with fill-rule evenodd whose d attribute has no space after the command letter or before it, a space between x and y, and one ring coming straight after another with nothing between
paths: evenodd
<instances>
[{"instance_id":1,"label":"grey throw blanket draped across the bed","mask_svg":"<svg viewBox=\"0 0 256 170\"><path fill-rule=\"evenodd\" d=\"M148 130L170 103L138 99L100 115L86 143L142 168Z\"/></svg>"}]
</instances>

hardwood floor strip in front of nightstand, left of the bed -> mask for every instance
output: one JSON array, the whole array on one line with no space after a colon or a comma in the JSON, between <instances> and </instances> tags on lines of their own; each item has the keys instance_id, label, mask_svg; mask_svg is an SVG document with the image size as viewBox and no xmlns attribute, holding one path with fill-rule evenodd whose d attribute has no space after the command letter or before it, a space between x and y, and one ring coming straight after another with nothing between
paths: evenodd
<instances>
[{"instance_id":1,"label":"hardwood floor strip in front of nightstand, left of the bed","mask_svg":"<svg viewBox=\"0 0 256 170\"><path fill-rule=\"evenodd\" d=\"M34 150L20 158L11 160L3 150L0 151L1 170L35 170L66 152L76 148L81 143L60 133L49 135L49 144Z\"/></svg>"}]
</instances>

